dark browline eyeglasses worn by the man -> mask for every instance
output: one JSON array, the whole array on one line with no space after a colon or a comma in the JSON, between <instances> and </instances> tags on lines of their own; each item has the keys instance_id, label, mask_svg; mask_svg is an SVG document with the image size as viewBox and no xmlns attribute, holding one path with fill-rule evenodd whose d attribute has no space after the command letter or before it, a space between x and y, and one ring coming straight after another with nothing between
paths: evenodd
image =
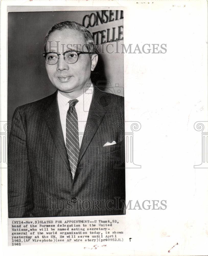
<instances>
[{"instance_id":1,"label":"dark browline eyeglasses worn by the man","mask_svg":"<svg viewBox=\"0 0 208 256\"><path fill-rule=\"evenodd\" d=\"M77 62L78 57L80 54L93 54L93 52L83 52L83 51L65 51L64 53L57 53L57 52L45 52L42 54L45 57L45 61L49 65L55 65L59 61L59 56L63 55L64 60L69 63L73 64Z\"/></svg>"}]
</instances>

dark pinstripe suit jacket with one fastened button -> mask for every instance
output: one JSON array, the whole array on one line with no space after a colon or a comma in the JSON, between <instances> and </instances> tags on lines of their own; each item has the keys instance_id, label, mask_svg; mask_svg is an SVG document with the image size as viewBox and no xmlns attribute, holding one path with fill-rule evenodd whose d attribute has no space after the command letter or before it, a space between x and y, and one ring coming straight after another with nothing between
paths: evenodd
<instances>
[{"instance_id":1,"label":"dark pinstripe suit jacket with one fastened button","mask_svg":"<svg viewBox=\"0 0 208 256\"><path fill-rule=\"evenodd\" d=\"M123 97L94 90L74 179L64 143L57 92L18 107L8 147L8 215L123 214ZM117 144L103 147L106 142ZM75 199L76 198L76 199Z\"/></svg>"}]
</instances>

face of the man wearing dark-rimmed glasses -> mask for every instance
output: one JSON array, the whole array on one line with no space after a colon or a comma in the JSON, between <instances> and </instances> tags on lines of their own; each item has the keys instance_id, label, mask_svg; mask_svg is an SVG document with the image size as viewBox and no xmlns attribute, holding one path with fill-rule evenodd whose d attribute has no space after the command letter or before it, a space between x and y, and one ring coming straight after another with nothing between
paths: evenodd
<instances>
[{"instance_id":1,"label":"face of the man wearing dark-rimmed glasses","mask_svg":"<svg viewBox=\"0 0 208 256\"><path fill-rule=\"evenodd\" d=\"M54 51L63 53L67 50L88 51L84 35L73 29L56 30L48 38L46 52ZM58 41L58 43L57 43ZM68 45L68 46L67 46ZM97 55L90 57L89 54L80 54L78 61L69 64L64 60L64 56L59 56L59 61L55 65L45 63L45 67L52 84L61 92L71 92L73 95L83 93L83 88L90 83L90 73L97 64Z\"/></svg>"}]
</instances>

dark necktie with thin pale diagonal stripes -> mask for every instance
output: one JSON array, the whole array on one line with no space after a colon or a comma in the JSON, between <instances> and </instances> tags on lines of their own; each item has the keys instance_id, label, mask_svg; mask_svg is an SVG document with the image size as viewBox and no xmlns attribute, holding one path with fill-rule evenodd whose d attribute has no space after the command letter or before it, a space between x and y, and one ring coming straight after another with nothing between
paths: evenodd
<instances>
[{"instance_id":1,"label":"dark necktie with thin pale diagonal stripes","mask_svg":"<svg viewBox=\"0 0 208 256\"><path fill-rule=\"evenodd\" d=\"M78 100L69 101L69 109L66 115L66 151L70 163L72 177L74 179L79 157L79 133L78 119L75 105Z\"/></svg>"}]
</instances>

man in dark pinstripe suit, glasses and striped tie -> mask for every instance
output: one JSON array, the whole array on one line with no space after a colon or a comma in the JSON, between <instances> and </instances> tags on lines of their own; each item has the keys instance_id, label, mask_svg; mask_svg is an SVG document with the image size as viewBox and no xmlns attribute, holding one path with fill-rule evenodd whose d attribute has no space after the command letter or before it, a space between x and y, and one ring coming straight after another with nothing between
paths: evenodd
<instances>
[{"instance_id":1,"label":"man in dark pinstripe suit, glasses and striped tie","mask_svg":"<svg viewBox=\"0 0 208 256\"><path fill-rule=\"evenodd\" d=\"M57 91L18 107L8 148L8 216L124 214L123 97L93 87L89 31L55 24L45 66Z\"/></svg>"}]
</instances>

